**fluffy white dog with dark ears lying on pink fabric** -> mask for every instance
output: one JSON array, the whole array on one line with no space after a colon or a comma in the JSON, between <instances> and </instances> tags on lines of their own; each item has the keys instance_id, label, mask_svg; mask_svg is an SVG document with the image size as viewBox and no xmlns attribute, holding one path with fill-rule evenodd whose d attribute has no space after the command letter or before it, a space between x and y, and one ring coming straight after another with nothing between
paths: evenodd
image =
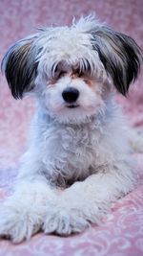
<instances>
[{"instance_id":1,"label":"fluffy white dog with dark ears lying on pink fabric","mask_svg":"<svg viewBox=\"0 0 143 256\"><path fill-rule=\"evenodd\" d=\"M15 99L37 107L13 194L0 209L0 236L13 243L39 230L68 236L98 224L136 184L127 122L115 102L136 80L142 51L94 15L42 28L2 60Z\"/></svg>"}]
</instances>

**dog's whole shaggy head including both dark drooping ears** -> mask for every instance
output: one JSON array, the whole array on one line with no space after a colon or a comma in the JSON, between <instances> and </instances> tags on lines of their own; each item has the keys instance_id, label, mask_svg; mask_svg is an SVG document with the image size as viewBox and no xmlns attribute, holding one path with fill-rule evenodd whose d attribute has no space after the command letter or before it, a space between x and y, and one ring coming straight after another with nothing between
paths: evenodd
<instances>
[{"instance_id":1,"label":"dog's whole shaggy head including both dark drooping ears","mask_svg":"<svg viewBox=\"0 0 143 256\"><path fill-rule=\"evenodd\" d=\"M15 99L35 95L52 117L80 122L102 112L114 88L125 96L141 62L133 38L88 16L16 42L2 70Z\"/></svg>"}]
</instances>

